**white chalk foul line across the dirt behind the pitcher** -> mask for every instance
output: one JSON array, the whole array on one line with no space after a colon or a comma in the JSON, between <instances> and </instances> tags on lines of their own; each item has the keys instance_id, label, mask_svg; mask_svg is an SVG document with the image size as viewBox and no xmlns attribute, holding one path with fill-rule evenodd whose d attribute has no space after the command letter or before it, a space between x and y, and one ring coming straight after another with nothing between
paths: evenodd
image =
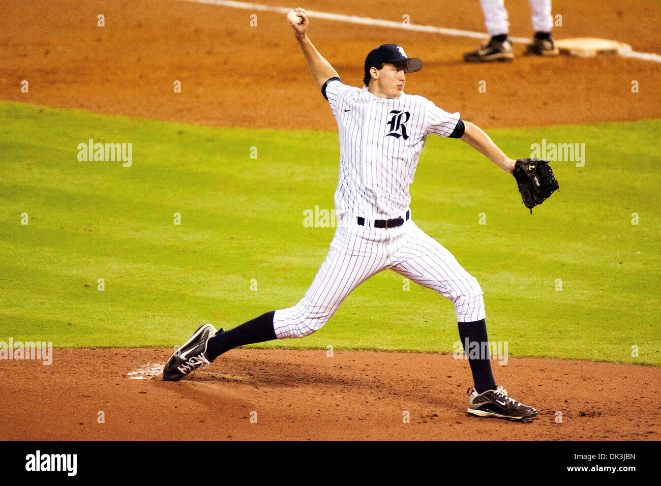
<instances>
[{"instance_id":1,"label":"white chalk foul line across the dirt behind the pitcher","mask_svg":"<svg viewBox=\"0 0 661 486\"><path fill-rule=\"evenodd\" d=\"M206 3L208 5L221 5L222 7L232 7L234 9L258 10L278 13L288 13L292 10L290 7L271 7L270 5L261 5L260 3L241 2L236 0L180 0L193 3ZM415 32L432 32L433 34L444 34L446 36L471 37L475 39L488 39L489 34L485 32L473 32L471 30L459 30L456 28L435 27L431 25L404 24L403 22L393 22L392 20L370 19L369 17L356 17L354 15L341 15L337 13L318 12L315 10L306 10L308 17L315 19L337 20L339 22L349 22L352 24L373 25L378 27L401 28L403 30L414 30ZM511 42L518 44L528 44L530 39L525 37L510 37ZM644 61L661 62L661 56L647 52L620 52L624 58L635 58Z\"/></svg>"}]
</instances>

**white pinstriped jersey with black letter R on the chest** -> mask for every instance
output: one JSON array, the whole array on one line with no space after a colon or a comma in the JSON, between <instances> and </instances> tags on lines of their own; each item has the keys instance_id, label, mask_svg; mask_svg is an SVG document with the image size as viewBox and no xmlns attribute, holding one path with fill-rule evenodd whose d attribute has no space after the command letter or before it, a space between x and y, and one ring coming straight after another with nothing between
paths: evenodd
<instances>
[{"instance_id":1,"label":"white pinstriped jersey with black letter R on the chest","mask_svg":"<svg viewBox=\"0 0 661 486\"><path fill-rule=\"evenodd\" d=\"M324 95L340 136L337 216L403 216L428 134L449 136L459 113L448 113L417 95L379 98L367 87L348 86L338 79L327 83Z\"/></svg>"}]
</instances>

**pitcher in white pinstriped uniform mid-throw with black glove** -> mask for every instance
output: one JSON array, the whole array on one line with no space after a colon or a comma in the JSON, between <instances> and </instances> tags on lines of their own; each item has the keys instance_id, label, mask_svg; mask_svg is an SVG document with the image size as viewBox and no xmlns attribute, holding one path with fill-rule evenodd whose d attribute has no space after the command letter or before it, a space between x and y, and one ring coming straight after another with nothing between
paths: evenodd
<instances>
[{"instance_id":1,"label":"pitcher in white pinstriped uniform mid-throw with black glove","mask_svg":"<svg viewBox=\"0 0 661 486\"><path fill-rule=\"evenodd\" d=\"M413 221L408 188L418 157L430 134L458 138L507 173L519 171L524 202L525 197L529 199L526 206L541 204L557 186L544 161L510 159L475 124L461 120L459 113L406 94L407 75L422 69L422 61L408 58L400 46L383 44L371 50L365 60L364 87L345 85L307 37L305 11L295 9L295 15L299 18L292 22L295 38L331 106L340 138L334 195L339 222L329 253L297 304L264 313L229 331L203 325L167 362L165 380L180 380L237 346L302 338L318 331L356 287L383 270L393 270L448 298L457 314L461 343L488 349L480 284ZM496 385L488 352L467 355L474 382L468 413L519 421L537 416L533 407L515 401Z\"/></svg>"}]
</instances>

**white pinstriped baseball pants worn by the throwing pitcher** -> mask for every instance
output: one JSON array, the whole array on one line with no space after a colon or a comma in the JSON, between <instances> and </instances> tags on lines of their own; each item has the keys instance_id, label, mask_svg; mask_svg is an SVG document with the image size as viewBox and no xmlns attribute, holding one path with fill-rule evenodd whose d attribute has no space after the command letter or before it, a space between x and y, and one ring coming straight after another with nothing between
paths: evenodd
<instances>
[{"instance_id":1,"label":"white pinstriped baseball pants worn by the throwing pitcher","mask_svg":"<svg viewBox=\"0 0 661 486\"><path fill-rule=\"evenodd\" d=\"M345 216L305 296L293 307L275 312L276 336L305 337L319 331L356 287L387 268L449 298L457 321L485 318L477 279L412 220L381 229L360 226L355 216Z\"/></svg>"}]
</instances>

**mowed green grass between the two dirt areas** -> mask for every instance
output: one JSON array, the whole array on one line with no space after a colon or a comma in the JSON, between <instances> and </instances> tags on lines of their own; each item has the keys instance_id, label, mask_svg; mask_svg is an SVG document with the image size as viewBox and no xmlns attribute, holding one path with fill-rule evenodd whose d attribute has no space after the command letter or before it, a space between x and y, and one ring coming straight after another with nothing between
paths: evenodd
<instances>
[{"instance_id":1,"label":"mowed green grass between the two dirt areas","mask_svg":"<svg viewBox=\"0 0 661 486\"><path fill-rule=\"evenodd\" d=\"M586 144L584 167L553 164L561 190L532 216L512 177L430 137L414 218L481 282L492 341L512 355L661 365L659 132L661 120L490 132L512 155L542 138ZM79 162L90 138L133 143L132 167ZM332 208L334 133L2 103L0 153L0 341L172 346L200 323L234 327L295 304L334 231L303 227L304 210ZM449 301L383 272L321 331L272 345L451 352L457 339Z\"/></svg>"}]
</instances>

